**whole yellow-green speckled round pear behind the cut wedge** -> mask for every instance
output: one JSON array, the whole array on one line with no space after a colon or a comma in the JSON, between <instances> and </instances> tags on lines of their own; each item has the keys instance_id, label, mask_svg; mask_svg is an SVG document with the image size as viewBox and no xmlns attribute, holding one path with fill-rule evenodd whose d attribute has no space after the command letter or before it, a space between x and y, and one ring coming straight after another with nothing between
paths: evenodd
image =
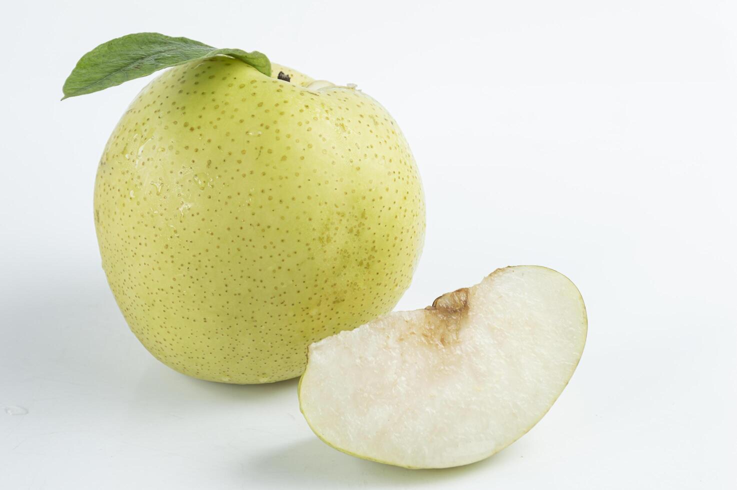
<instances>
[{"instance_id":1,"label":"whole yellow-green speckled round pear behind the cut wedge","mask_svg":"<svg viewBox=\"0 0 737 490\"><path fill-rule=\"evenodd\" d=\"M99 162L94 214L143 345L240 384L297 377L310 343L390 311L425 234L415 161L381 105L222 56L136 97Z\"/></svg>"}]
</instances>

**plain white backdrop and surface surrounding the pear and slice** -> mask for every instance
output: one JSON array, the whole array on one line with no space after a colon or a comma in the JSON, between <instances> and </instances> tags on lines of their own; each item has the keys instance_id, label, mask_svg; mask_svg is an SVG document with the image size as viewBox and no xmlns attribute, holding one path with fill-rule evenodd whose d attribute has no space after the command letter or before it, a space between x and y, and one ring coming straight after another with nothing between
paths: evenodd
<instances>
[{"instance_id":1,"label":"plain white backdrop and surface surrounding the pear and slice","mask_svg":"<svg viewBox=\"0 0 737 490\"><path fill-rule=\"evenodd\" d=\"M0 30L0 489L736 488L733 1L7 2ZM427 238L400 309L496 267L570 277L578 371L534 430L411 471L315 438L296 380L184 377L100 267L97 161L147 80L59 102L77 59L158 31L258 49L394 115Z\"/></svg>"}]
</instances>

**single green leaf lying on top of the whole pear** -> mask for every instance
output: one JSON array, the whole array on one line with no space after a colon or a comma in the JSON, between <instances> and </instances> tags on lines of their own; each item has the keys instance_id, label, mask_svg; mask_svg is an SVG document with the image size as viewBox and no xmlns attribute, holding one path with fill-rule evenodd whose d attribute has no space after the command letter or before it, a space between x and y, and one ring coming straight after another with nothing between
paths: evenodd
<instances>
[{"instance_id":1,"label":"single green leaf lying on top of the whole pear","mask_svg":"<svg viewBox=\"0 0 737 490\"><path fill-rule=\"evenodd\" d=\"M139 32L102 43L84 55L64 82L62 100L120 85L170 66L217 55L234 57L271 76L268 57L257 51L215 49L192 39Z\"/></svg>"}]
</instances>

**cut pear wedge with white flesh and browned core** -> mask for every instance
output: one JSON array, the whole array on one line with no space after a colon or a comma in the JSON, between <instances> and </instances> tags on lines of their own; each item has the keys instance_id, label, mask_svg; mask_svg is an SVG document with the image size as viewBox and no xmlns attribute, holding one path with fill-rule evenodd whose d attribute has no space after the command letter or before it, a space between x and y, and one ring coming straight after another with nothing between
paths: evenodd
<instances>
[{"instance_id":1,"label":"cut pear wedge with white flesh and browned core","mask_svg":"<svg viewBox=\"0 0 737 490\"><path fill-rule=\"evenodd\" d=\"M327 444L406 468L488 458L524 435L586 342L576 286L546 267L497 269L432 307L313 343L300 408Z\"/></svg>"}]
</instances>

